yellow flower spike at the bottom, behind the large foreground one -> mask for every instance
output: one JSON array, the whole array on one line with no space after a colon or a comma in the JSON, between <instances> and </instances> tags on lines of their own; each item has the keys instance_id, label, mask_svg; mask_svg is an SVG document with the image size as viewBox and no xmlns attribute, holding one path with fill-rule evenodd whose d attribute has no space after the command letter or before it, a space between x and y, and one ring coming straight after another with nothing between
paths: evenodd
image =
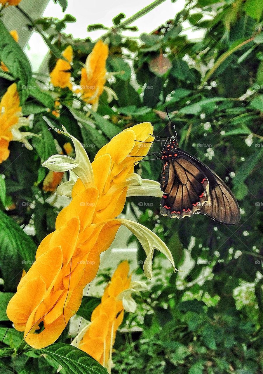
<instances>
[{"instance_id":1,"label":"yellow flower spike at the bottom, behind the large foreground one","mask_svg":"<svg viewBox=\"0 0 263 374\"><path fill-rule=\"evenodd\" d=\"M121 262L111 281L106 286L101 303L93 310L91 322L80 332L73 345L95 358L101 365L108 368L112 366L112 347L114 345L116 332L123 322L124 309L129 304L125 303L126 294L137 292L137 289L146 289L145 283L131 282L129 276L129 264ZM135 301L130 297L135 304ZM132 304L133 304L132 303ZM128 308L129 312L135 312Z\"/></svg>"}]
</instances>

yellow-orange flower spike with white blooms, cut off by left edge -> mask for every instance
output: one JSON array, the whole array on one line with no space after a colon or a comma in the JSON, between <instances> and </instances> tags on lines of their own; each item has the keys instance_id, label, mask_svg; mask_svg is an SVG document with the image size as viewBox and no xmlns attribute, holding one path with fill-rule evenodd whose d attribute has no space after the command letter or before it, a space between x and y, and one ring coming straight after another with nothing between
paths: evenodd
<instances>
[{"instance_id":1,"label":"yellow-orange flower spike with white blooms, cut off by left edge","mask_svg":"<svg viewBox=\"0 0 263 374\"><path fill-rule=\"evenodd\" d=\"M25 147L32 150L26 137L37 135L19 131L19 128L27 123L28 120L22 117L16 83L13 83L0 101L0 163L9 157L8 147L11 140L21 141Z\"/></svg>"}]
</instances>

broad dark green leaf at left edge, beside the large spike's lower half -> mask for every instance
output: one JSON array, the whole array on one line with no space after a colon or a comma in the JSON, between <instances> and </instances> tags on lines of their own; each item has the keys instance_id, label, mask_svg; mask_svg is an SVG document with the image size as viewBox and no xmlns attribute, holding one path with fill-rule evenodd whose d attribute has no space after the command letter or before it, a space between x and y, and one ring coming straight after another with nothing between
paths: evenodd
<instances>
[{"instance_id":1,"label":"broad dark green leaf at left edge, beside the large spike's lower half","mask_svg":"<svg viewBox=\"0 0 263 374\"><path fill-rule=\"evenodd\" d=\"M15 291L22 270L28 271L33 264L35 252L30 236L0 211L0 269L6 291Z\"/></svg>"}]
</instances>

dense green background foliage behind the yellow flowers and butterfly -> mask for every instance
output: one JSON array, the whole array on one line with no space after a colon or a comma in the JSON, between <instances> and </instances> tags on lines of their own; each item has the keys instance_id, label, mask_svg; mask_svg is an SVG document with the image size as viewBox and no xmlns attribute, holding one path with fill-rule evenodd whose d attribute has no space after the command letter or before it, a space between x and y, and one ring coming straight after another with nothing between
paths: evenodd
<instances>
[{"instance_id":1,"label":"dense green background foliage behind the yellow flowers and butterfly","mask_svg":"<svg viewBox=\"0 0 263 374\"><path fill-rule=\"evenodd\" d=\"M60 3L66 6L65 1ZM16 81L22 113L34 114L32 131L42 135L33 140L33 151L11 142L10 157L0 165L4 176L0 178L0 273L4 281L0 337L1 356L6 356L0 362L1 373L55 373L54 368L68 355L74 362L81 360L63 345L69 343L67 331L56 343L62 345L49 347L47 352L21 346L22 334L12 328L5 314L22 268L31 266L36 246L54 230L59 211L42 190L47 171L41 163L65 142L61 134L48 131L50 124L64 125L93 159L115 134L136 123L150 121L155 135L173 135L165 108L180 147L209 165L235 193L241 221L227 227L199 215L167 220L158 213L158 199L127 200L140 223L167 243L177 267L188 266L183 273L171 274L157 259L154 284L138 298L138 312L127 316L118 334L112 372L262 373L262 8L260 0L187 1L174 18L139 38L122 35L129 24L120 13L102 38L109 40L107 70L120 71L109 84L118 100L108 104L103 94L98 111L88 119L84 103L76 108L71 91L44 89L46 77L32 73L0 20L0 61L9 68L8 73L0 71L0 95ZM188 40L182 33L185 20L193 29L206 30L201 41ZM63 33L65 23L74 21L70 15L63 20L33 22L28 18L50 47L51 69L65 47L72 45L71 75L79 83L81 63L94 42L74 40ZM88 30L96 28L106 29L90 25ZM58 94L62 109L56 119L52 110ZM152 148L159 151L159 147L154 144ZM160 161L141 162L136 168L144 178L159 180ZM28 225L34 228L33 236L21 230ZM143 251L139 244L138 248L137 273L142 274ZM96 302L84 298L79 314L85 313L88 319ZM54 352L59 352L57 361ZM81 373L93 373L92 365L85 365ZM74 370L69 365L67 372Z\"/></svg>"}]
</instances>

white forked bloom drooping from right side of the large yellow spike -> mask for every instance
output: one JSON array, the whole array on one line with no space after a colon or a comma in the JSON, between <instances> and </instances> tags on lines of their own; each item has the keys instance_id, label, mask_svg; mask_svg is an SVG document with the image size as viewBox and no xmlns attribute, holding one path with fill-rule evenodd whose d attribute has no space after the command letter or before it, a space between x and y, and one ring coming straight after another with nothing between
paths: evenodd
<instances>
[{"instance_id":1,"label":"white forked bloom drooping from right side of the large yellow spike","mask_svg":"<svg viewBox=\"0 0 263 374\"><path fill-rule=\"evenodd\" d=\"M143 271L148 279L152 278L152 258L154 255L154 248L158 249L158 251L162 252L168 258L174 271L177 270L171 252L160 237L138 222L126 219L120 219L120 221L123 226L126 226L137 237L145 250L147 257L143 264Z\"/></svg>"}]
</instances>

